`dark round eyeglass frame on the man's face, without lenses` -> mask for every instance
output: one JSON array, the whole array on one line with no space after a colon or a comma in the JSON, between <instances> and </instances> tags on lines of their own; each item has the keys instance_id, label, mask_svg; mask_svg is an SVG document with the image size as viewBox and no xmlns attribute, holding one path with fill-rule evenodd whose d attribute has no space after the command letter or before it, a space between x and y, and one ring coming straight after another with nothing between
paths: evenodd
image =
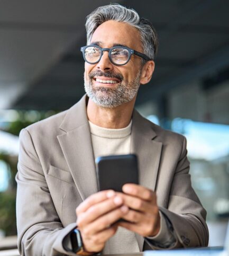
<instances>
[{"instance_id":1,"label":"dark round eyeglass frame on the man's face, without lenses","mask_svg":"<svg viewBox=\"0 0 229 256\"><path fill-rule=\"evenodd\" d=\"M95 62L89 62L89 61L86 60L86 58L85 58L85 50L86 50L88 47L96 47L96 48L98 48L98 49L101 51L100 57L99 57L99 59L98 59L97 61L95 61ZM129 52L129 58L126 60L126 62L125 62L124 64L116 64L116 63L114 63L114 61L112 60L111 52L112 52L113 49L117 49L117 48L126 49L126 50ZM88 46L83 46L83 47L81 47L81 48L80 48L80 51L81 51L82 54L83 54L84 60L85 60L87 63L89 63L89 64L96 64L96 63L98 63L98 62L100 61L100 59L102 58L104 51L108 51L109 60L111 61L112 64L114 64L114 65L116 65L116 66L123 66L123 65L126 65L126 64L129 62L129 60L130 60L130 58L131 58L131 56L132 56L133 54L134 54L134 55L137 55L137 56L139 56L139 57L141 57L141 58L143 58L143 59L145 59L145 60L147 60L147 61L152 60L152 59L150 59L148 56L146 56L145 54L142 54L142 53L139 52L139 51L135 51L135 50L133 50L133 49L131 49L131 48L128 48L128 47L125 47L125 46L114 46L114 47L112 47L112 48L101 48L101 47L95 46L95 45L88 45Z\"/></svg>"}]
</instances>

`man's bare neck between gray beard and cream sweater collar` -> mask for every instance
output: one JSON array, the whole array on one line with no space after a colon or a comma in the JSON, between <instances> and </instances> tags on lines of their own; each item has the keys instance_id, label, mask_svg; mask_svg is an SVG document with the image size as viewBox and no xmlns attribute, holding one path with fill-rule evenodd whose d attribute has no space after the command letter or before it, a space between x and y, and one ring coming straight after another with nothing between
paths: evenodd
<instances>
[{"instance_id":1,"label":"man's bare neck between gray beard and cream sweater collar","mask_svg":"<svg viewBox=\"0 0 229 256\"><path fill-rule=\"evenodd\" d=\"M109 129L121 129L129 125L132 117L134 103L133 100L123 103L115 108L104 108L96 105L92 100L88 100L87 117L88 120L97 126Z\"/></svg>"}]
</instances>

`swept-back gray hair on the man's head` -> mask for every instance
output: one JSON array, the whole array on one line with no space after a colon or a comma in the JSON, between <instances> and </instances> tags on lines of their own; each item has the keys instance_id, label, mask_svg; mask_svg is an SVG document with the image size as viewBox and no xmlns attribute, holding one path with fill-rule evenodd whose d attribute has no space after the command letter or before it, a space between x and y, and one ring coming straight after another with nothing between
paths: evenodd
<instances>
[{"instance_id":1,"label":"swept-back gray hair on the man's head","mask_svg":"<svg viewBox=\"0 0 229 256\"><path fill-rule=\"evenodd\" d=\"M85 24L87 45L89 45L91 37L98 26L109 20L125 22L138 29L144 54L150 59L154 59L158 50L158 38L152 23L149 20L140 18L139 14L133 9L128 9L120 4L100 6L87 16Z\"/></svg>"}]
</instances>

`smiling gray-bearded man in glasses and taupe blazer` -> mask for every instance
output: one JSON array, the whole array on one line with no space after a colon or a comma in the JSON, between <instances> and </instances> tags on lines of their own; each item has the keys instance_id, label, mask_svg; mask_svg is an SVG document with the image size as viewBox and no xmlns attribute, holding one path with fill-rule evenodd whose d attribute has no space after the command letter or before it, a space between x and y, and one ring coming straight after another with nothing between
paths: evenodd
<instances>
[{"instance_id":1,"label":"smiling gray-bearded man in glasses and taupe blazer","mask_svg":"<svg viewBox=\"0 0 229 256\"><path fill-rule=\"evenodd\" d=\"M186 140L133 110L151 79L157 37L121 5L87 17L84 96L23 129L16 180L23 255L90 255L206 246L206 212L191 188ZM140 185L98 192L95 158L135 153ZM118 219L127 222L117 222Z\"/></svg>"}]
</instances>

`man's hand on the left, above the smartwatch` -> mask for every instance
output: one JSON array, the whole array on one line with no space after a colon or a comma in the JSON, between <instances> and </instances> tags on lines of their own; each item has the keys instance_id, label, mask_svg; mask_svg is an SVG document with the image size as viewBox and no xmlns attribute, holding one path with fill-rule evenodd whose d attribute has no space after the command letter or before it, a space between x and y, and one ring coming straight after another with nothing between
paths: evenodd
<instances>
[{"instance_id":1,"label":"man's hand on the left, above the smartwatch","mask_svg":"<svg viewBox=\"0 0 229 256\"><path fill-rule=\"evenodd\" d=\"M102 251L105 242L117 231L117 224L112 224L127 212L122 197L113 190L100 191L83 201L76 208L76 215L85 251Z\"/></svg>"}]
</instances>

